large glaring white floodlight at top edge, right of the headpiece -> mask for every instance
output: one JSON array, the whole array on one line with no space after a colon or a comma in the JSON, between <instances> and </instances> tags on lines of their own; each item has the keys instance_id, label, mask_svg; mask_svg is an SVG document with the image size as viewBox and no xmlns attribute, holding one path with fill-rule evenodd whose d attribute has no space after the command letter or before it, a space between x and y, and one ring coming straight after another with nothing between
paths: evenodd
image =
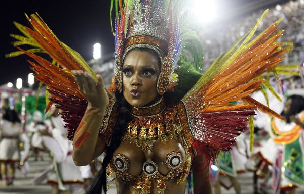
<instances>
[{"instance_id":1,"label":"large glaring white floodlight at top edge, right of the headpiece","mask_svg":"<svg viewBox=\"0 0 304 194\"><path fill-rule=\"evenodd\" d=\"M218 17L217 6L217 1L215 0L195 0L193 2L193 12L199 22L207 24Z\"/></svg>"}]
</instances>

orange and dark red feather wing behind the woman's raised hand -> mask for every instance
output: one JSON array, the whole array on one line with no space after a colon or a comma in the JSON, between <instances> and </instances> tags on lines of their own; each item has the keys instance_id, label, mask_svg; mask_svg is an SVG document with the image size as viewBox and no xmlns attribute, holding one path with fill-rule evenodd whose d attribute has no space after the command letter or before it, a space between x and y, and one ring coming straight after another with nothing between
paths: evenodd
<instances>
[{"instance_id":1,"label":"orange and dark red feather wing behind the woman's raised hand","mask_svg":"<svg viewBox=\"0 0 304 194\"><path fill-rule=\"evenodd\" d=\"M35 62L28 61L35 72L34 76L47 85L51 95L46 111L53 103L61 109L60 114L68 129L68 139L72 140L85 113L87 101L79 91L71 70L87 71L97 79L96 74L77 52L56 37L39 15L32 14L29 17L26 15L26 17L31 28L15 23L24 36L11 35L18 40L14 42L14 45L28 44L34 47L34 49L27 51L20 47L17 48L35 60ZM34 54L34 52L47 53L53 59L53 63ZM20 54L20 52L14 52L8 54L7 57Z\"/></svg>"}]
</instances>

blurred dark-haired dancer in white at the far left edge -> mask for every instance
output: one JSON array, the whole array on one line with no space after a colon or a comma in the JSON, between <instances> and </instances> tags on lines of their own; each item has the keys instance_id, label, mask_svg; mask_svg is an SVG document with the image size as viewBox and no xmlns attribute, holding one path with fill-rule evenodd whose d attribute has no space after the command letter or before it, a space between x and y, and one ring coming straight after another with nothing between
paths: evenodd
<instances>
[{"instance_id":1,"label":"blurred dark-haired dancer in white at the far left edge","mask_svg":"<svg viewBox=\"0 0 304 194\"><path fill-rule=\"evenodd\" d=\"M18 144L21 122L15 110L5 110L0 125L0 167L2 185L13 184L15 162L19 161Z\"/></svg>"}]
</instances>

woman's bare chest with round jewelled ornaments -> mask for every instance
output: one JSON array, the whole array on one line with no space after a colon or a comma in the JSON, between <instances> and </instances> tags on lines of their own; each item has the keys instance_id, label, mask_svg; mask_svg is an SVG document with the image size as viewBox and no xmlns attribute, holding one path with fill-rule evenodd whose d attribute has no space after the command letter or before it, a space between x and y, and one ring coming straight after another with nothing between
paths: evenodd
<instances>
[{"instance_id":1,"label":"woman's bare chest with round jewelled ornaments","mask_svg":"<svg viewBox=\"0 0 304 194\"><path fill-rule=\"evenodd\" d=\"M135 180L142 174L157 174L172 179L184 170L186 150L176 139L166 143L149 142L149 149L142 149L130 141L121 143L114 152L112 167L127 181ZM127 178L129 177L129 178Z\"/></svg>"}]
</instances>

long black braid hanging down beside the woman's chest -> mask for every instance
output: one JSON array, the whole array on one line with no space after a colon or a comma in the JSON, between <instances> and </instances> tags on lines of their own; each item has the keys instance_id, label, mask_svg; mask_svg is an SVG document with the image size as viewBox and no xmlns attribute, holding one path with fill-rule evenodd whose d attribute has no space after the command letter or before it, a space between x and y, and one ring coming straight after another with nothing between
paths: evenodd
<instances>
[{"instance_id":1,"label":"long black braid hanging down beside the woman's chest","mask_svg":"<svg viewBox=\"0 0 304 194\"><path fill-rule=\"evenodd\" d=\"M113 157L114 151L119 147L122 141L122 137L127 130L127 125L131 121L130 105L127 103L122 93L115 93L115 97L118 103L118 119L116 127L113 129L112 139L109 147L106 151L106 156L103 159L102 167L91 181L90 188L87 194L104 193L107 191L106 186L106 167Z\"/></svg>"}]
</instances>

